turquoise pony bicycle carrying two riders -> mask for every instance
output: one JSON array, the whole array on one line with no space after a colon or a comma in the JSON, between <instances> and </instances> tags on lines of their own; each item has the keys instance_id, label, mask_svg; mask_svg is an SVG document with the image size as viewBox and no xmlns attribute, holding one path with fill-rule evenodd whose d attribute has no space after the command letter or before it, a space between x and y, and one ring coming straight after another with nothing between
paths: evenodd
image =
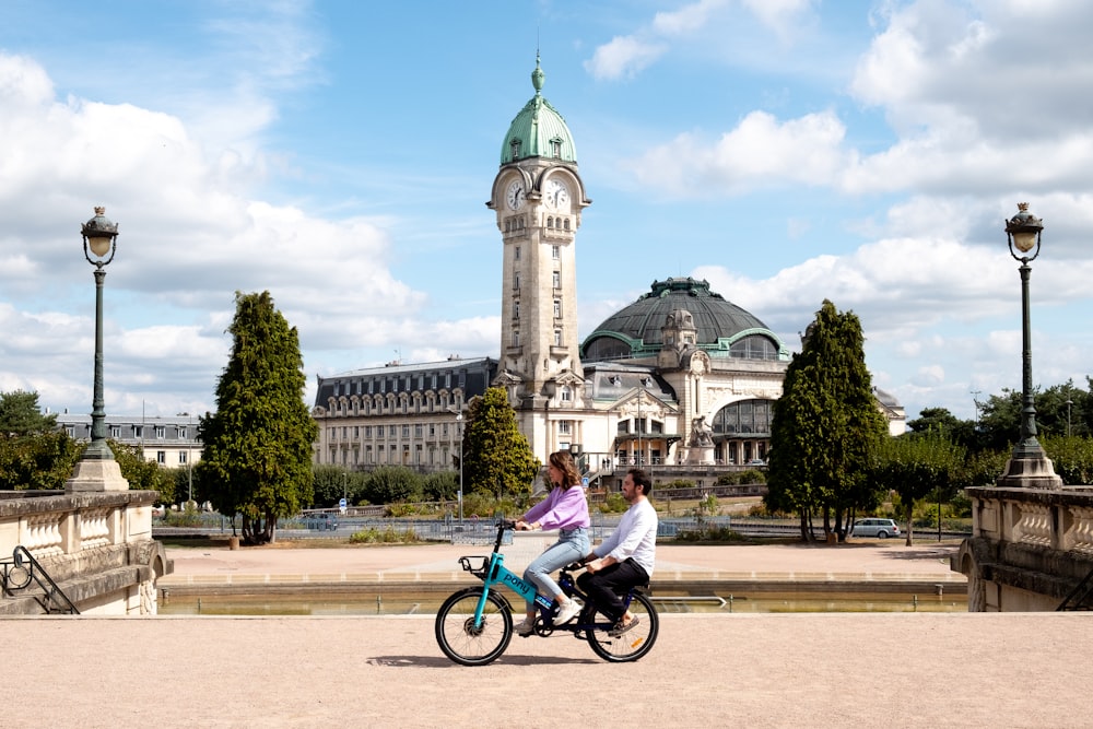
<instances>
[{"instance_id":1,"label":"turquoise pony bicycle carrying two riders","mask_svg":"<svg viewBox=\"0 0 1093 729\"><path fill-rule=\"evenodd\" d=\"M445 656L462 666L485 666L505 652L513 639L513 607L497 589L498 586L514 591L521 603L526 602L526 596L534 595L534 635L550 637L555 632L571 633L577 639L587 640L597 656L611 662L635 661L653 649L660 630L660 619L653 603L642 592L642 588L647 585L620 595L623 604L638 619L638 623L626 632L612 636L614 624L597 611L573 578L573 573L583 568L579 563L563 567L557 583L567 597L580 600L584 607L576 619L564 625L555 625L557 605L553 598L540 595L534 585L505 567L501 544L505 530L514 529L515 526L513 521L497 522L497 539L490 556L459 557L459 565L463 571L471 573L483 584L456 591L437 611L436 642Z\"/></svg>"}]
</instances>

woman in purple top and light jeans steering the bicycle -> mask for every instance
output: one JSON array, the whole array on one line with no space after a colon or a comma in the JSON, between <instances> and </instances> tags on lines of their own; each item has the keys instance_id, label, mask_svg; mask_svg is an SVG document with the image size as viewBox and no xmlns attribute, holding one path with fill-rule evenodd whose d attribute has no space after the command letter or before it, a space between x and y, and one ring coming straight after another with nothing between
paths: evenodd
<instances>
[{"instance_id":1,"label":"woman in purple top and light jeans steering the bicycle","mask_svg":"<svg viewBox=\"0 0 1093 729\"><path fill-rule=\"evenodd\" d=\"M542 595L553 595L559 603L554 624L561 625L577 616L580 604L571 600L551 577L555 569L571 562L580 560L588 553L588 499L581 487L580 473L573 462L568 450L559 450L548 459L546 477L552 485L546 498L539 502L516 522L519 530L542 529L559 530L557 541L540 554L524 573L528 580ZM536 607L534 596L527 601L527 614L524 622L516 626L521 636L534 632Z\"/></svg>"}]
</instances>

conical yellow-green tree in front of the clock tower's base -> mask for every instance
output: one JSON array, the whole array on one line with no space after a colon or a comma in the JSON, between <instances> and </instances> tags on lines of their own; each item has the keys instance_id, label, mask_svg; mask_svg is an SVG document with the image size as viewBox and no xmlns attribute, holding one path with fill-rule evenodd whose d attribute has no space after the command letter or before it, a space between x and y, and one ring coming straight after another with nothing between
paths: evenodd
<instances>
[{"instance_id":1,"label":"conical yellow-green tree in front of the clock tower's base","mask_svg":"<svg viewBox=\"0 0 1093 729\"><path fill-rule=\"evenodd\" d=\"M540 466L504 388L491 387L471 401L463 431L463 478L470 486L465 491L530 495Z\"/></svg>"}]
</instances>

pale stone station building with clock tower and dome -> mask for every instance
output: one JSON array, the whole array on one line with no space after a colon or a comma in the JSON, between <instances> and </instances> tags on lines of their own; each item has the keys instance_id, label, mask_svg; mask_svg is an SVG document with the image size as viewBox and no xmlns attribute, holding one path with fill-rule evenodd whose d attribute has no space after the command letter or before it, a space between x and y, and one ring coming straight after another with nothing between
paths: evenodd
<instances>
[{"instance_id":1,"label":"pale stone station building with clock tower and dome","mask_svg":"<svg viewBox=\"0 0 1093 729\"><path fill-rule=\"evenodd\" d=\"M506 389L537 458L571 449L591 479L631 463L659 479L765 458L790 354L706 281L655 281L578 341L577 233L591 200L544 82L537 58L534 95L502 139L486 201L501 236L497 361L392 363L320 377L316 462L448 468L457 413L487 385ZM458 385L436 384L459 372ZM384 381L388 389L374 391ZM891 398L882 409L902 419Z\"/></svg>"}]
</instances>

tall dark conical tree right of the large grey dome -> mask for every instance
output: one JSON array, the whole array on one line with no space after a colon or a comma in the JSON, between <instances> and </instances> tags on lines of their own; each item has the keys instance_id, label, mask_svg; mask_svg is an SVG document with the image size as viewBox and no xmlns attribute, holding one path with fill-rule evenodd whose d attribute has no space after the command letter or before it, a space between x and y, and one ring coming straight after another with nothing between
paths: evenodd
<instances>
[{"instance_id":1,"label":"tall dark conical tree right of the large grey dome","mask_svg":"<svg viewBox=\"0 0 1093 729\"><path fill-rule=\"evenodd\" d=\"M775 403L767 508L798 512L803 540L812 539L814 509L823 513L824 532L843 539L844 520L875 502L866 474L888 425L873 400L863 344L858 317L825 299Z\"/></svg>"}]
</instances>

